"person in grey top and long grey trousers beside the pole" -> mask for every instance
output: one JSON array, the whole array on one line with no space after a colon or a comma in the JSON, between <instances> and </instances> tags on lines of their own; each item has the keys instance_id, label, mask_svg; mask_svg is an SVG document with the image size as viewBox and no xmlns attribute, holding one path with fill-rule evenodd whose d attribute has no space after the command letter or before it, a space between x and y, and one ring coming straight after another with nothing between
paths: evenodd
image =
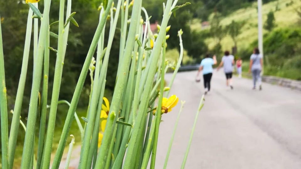
<instances>
[{"instance_id":1,"label":"person in grey top and long grey trousers beside the pole","mask_svg":"<svg viewBox=\"0 0 301 169\"><path fill-rule=\"evenodd\" d=\"M262 70L262 55L258 48L253 50L253 54L250 57L249 73L252 72L253 77L253 90L256 89L256 82L258 82L259 90L262 90L261 86L261 70Z\"/></svg>"}]
</instances>

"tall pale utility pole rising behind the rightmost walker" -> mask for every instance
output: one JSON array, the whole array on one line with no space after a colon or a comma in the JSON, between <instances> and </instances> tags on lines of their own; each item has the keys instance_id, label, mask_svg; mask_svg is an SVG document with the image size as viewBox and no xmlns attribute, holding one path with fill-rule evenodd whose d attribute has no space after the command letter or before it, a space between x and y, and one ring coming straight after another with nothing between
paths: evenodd
<instances>
[{"instance_id":1,"label":"tall pale utility pole rising behind the rightmost walker","mask_svg":"<svg viewBox=\"0 0 301 169\"><path fill-rule=\"evenodd\" d=\"M262 0L257 0L257 6L258 6L258 49L263 57L262 12L261 12ZM262 65L261 73L263 73L263 65Z\"/></svg>"}]
</instances>

